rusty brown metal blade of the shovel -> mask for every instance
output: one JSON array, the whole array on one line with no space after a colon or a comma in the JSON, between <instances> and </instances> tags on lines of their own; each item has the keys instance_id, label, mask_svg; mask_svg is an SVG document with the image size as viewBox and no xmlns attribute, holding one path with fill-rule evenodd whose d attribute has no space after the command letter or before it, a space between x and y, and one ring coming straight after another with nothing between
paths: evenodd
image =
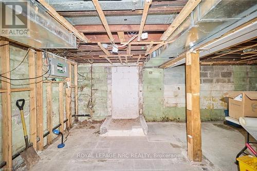
<instances>
[{"instance_id":1,"label":"rusty brown metal blade of the shovel","mask_svg":"<svg viewBox=\"0 0 257 171\"><path fill-rule=\"evenodd\" d=\"M34 165L36 164L39 160L40 157L39 155L36 153L35 149L33 148L33 146L28 147L27 149L25 149L22 153L21 153L21 157L23 159L23 161L25 162L28 170Z\"/></svg>"}]
</instances>

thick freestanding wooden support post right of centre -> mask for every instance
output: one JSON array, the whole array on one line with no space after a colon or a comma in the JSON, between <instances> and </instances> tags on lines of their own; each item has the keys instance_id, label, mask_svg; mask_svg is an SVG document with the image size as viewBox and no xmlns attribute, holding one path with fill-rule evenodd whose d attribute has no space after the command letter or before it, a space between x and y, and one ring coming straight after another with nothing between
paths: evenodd
<instances>
[{"instance_id":1,"label":"thick freestanding wooden support post right of centre","mask_svg":"<svg viewBox=\"0 0 257 171\"><path fill-rule=\"evenodd\" d=\"M199 52L186 53L187 145L191 161L201 161Z\"/></svg>"}]
</instances>

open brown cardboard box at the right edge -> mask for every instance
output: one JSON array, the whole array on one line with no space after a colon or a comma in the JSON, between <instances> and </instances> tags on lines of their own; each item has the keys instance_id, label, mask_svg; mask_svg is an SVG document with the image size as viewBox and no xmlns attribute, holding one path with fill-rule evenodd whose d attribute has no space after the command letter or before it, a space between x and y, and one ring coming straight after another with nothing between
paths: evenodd
<instances>
[{"instance_id":1,"label":"open brown cardboard box at the right edge","mask_svg":"<svg viewBox=\"0 0 257 171\"><path fill-rule=\"evenodd\" d=\"M257 118L257 91L229 91L225 93L229 98L229 116Z\"/></svg>"}]
</instances>

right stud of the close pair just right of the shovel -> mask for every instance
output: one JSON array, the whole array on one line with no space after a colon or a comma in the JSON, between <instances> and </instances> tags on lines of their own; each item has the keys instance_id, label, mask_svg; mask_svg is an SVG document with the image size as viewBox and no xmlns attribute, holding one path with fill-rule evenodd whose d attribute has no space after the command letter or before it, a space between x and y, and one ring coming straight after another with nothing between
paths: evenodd
<instances>
[{"instance_id":1,"label":"right stud of the close pair just right of the shovel","mask_svg":"<svg viewBox=\"0 0 257 171\"><path fill-rule=\"evenodd\" d=\"M42 71L42 52L36 51L36 76L39 77L43 74ZM44 149L44 125L43 125L43 78L36 79L36 134L40 138L36 148L42 151Z\"/></svg>"}]
</instances>

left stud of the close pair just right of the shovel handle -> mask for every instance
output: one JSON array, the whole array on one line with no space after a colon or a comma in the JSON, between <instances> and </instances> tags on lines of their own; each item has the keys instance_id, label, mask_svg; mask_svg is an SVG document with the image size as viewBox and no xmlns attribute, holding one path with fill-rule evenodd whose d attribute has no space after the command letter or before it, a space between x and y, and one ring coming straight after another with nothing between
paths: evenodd
<instances>
[{"instance_id":1,"label":"left stud of the close pair just right of the shovel handle","mask_svg":"<svg viewBox=\"0 0 257 171\"><path fill-rule=\"evenodd\" d=\"M29 50L29 78L35 78L35 53ZM30 118L30 142L36 150L36 87L35 79L29 80L29 118Z\"/></svg>"}]
</instances>

